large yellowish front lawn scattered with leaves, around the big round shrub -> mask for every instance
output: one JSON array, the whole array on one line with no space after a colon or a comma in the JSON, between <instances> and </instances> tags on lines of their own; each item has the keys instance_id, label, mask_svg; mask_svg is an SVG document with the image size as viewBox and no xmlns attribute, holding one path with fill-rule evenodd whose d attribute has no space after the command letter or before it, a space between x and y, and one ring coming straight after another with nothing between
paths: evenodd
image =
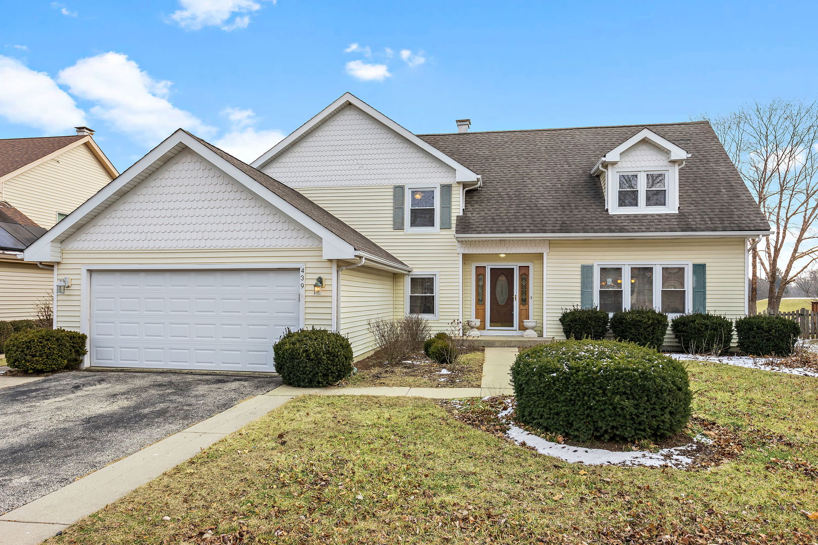
<instances>
[{"instance_id":1,"label":"large yellowish front lawn scattered with leaves, around the big round shrub","mask_svg":"<svg viewBox=\"0 0 818 545\"><path fill-rule=\"evenodd\" d=\"M812 543L818 380L689 372L694 413L744 441L709 471L562 462L431 400L302 396L47 543Z\"/></svg>"}]
</instances>

